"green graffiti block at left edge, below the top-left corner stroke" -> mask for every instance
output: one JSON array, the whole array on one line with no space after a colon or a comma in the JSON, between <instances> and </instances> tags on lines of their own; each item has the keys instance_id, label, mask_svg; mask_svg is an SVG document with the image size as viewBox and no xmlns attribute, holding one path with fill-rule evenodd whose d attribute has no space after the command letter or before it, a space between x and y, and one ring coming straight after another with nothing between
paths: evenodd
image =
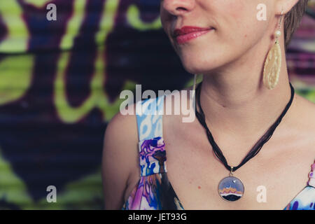
<instances>
[{"instance_id":1,"label":"green graffiti block at left edge, below the top-left corner stroke","mask_svg":"<svg viewBox=\"0 0 315 224\"><path fill-rule=\"evenodd\" d=\"M0 62L0 105L23 97L31 85L33 55L10 55Z\"/></svg>"}]
</instances>

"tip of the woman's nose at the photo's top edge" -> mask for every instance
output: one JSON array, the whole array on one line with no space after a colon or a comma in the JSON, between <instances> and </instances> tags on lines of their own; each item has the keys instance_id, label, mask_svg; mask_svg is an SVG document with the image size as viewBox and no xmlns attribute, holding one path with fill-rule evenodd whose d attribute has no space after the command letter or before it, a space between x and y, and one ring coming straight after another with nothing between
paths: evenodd
<instances>
[{"instance_id":1,"label":"tip of the woman's nose at the photo's top edge","mask_svg":"<svg viewBox=\"0 0 315 224\"><path fill-rule=\"evenodd\" d=\"M163 0L162 8L172 15L179 16L195 8L195 0Z\"/></svg>"}]
</instances>

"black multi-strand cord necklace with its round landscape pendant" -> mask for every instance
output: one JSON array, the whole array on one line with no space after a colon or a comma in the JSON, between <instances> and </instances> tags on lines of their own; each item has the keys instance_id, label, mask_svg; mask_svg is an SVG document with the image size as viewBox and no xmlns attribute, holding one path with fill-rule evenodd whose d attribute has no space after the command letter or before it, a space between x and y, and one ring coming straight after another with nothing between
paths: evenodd
<instances>
[{"instance_id":1,"label":"black multi-strand cord necklace with its round landscape pendant","mask_svg":"<svg viewBox=\"0 0 315 224\"><path fill-rule=\"evenodd\" d=\"M204 129L207 132L207 137L208 137L209 142L210 142L210 144L214 150L214 154L216 155L216 157L219 160L221 160L223 165L230 172L230 176L227 176L220 181L220 183L218 185L218 193L219 193L219 195L221 195L221 197L224 200L227 200L229 202L233 202L233 201L239 200L239 198L241 198L244 195L244 185L241 182L241 180L239 180L235 176L233 176L233 172L237 171L237 169L239 169L242 165L244 165L246 162L248 162L248 160L251 160L251 158L253 158L255 155L257 155L259 153L260 149L262 148L262 146L270 139L270 137L272 137L274 130L276 130L276 127L278 127L278 125L281 123L283 116L286 115L286 112L288 111L288 109L290 108L290 106L293 102L295 90L290 83L290 89L291 89L290 101L288 102L288 104L286 104L286 108L283 110L283 112L281 113L279 118L276 120L276 122L271 127L269 127L269 130L267 130L267 132L258 140L258 142L255 144L255 146L253 146L253 148L251 148L251 151L249 151L249 153L245 156L245 158L241 161L241 163L237 167L230 167L230 165L228 165L228 162L226 161L221 149L218 147L218 145L214 141L214 137L212 136L212 134L211 134L211 132L207 126L206 119L204 117L204 111L202 111L202 106L200 104L201 86L202 86L202 83L200 83L196 89L197 105L200 109L200 112L198 112L197 108L196 108L196 117L199 120L200 124L204 127Z\"/></svg>"}]
</instances>

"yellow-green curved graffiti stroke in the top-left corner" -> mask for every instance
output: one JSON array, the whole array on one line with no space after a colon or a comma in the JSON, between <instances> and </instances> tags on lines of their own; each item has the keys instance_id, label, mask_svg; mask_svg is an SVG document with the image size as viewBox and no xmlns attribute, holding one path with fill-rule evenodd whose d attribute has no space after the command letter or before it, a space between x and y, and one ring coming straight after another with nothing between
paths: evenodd
<instances>
[{"instance_id":1,"label":"yellow-green curved graffiti stroke in the top-left corner","mask_svg":"<svg viewBox=\"0 0 315 224\"><path fill-rule=\"evenodd\" d=\"M22 20L22 8L16 0L0 1L0 14L8 29L6 39L0 42L0 52L27 50L29 31Z\"/></svg>"}]
</instances>

